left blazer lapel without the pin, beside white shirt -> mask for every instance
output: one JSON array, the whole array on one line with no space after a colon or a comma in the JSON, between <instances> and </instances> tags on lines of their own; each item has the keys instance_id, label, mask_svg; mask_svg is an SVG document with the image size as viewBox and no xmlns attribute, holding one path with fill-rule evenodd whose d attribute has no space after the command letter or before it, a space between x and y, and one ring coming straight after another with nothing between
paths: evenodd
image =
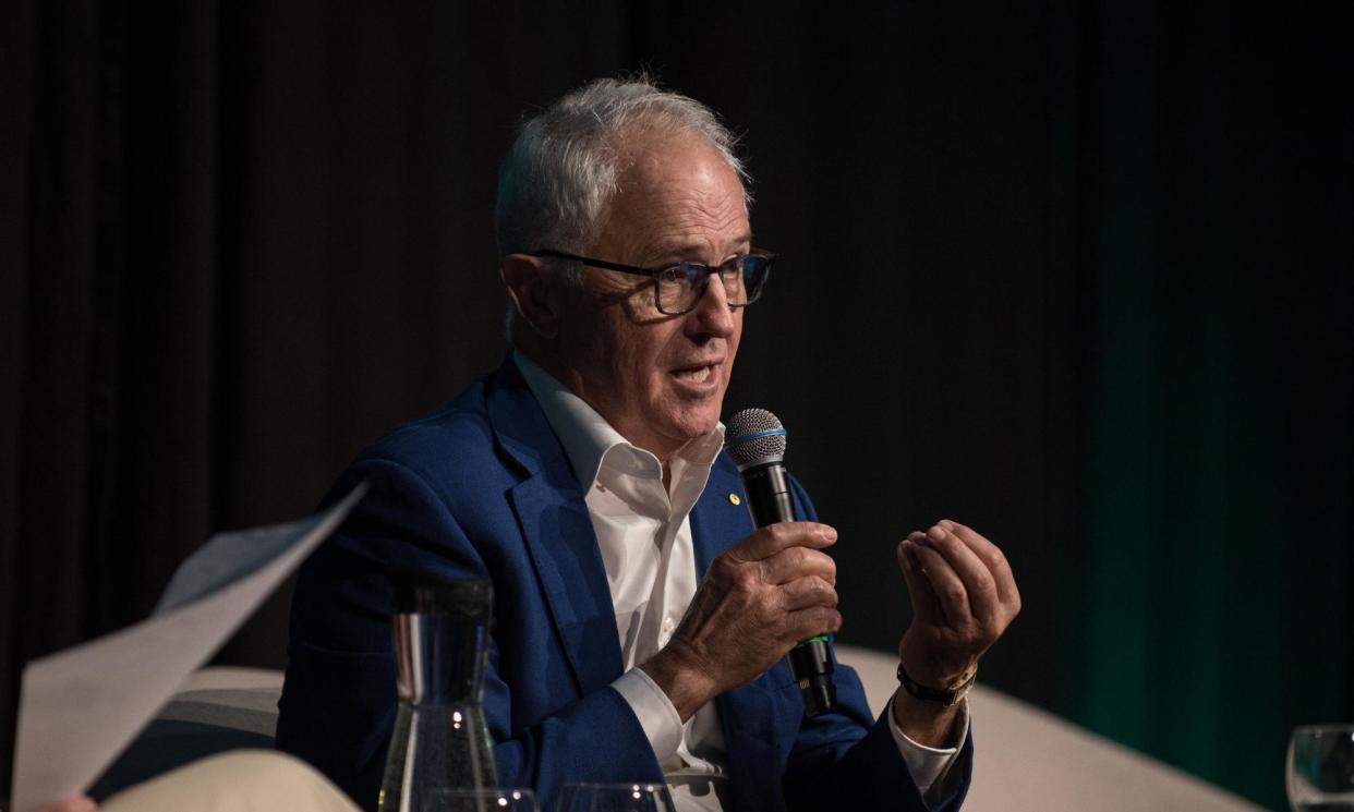
<instances>
[{"instance_id":1,"label":"left blazer lapel without the pin, beside white shirt","mask_svg":"<svg viewBox=\"0 0 1354 812\"><path fill-rule=\"evenodd\" d=\"M580 696L621 673L620 636L597 535L565 451L508 359L486 395L500 448L523 468L508 493Z\"/></svg>"}]
</instances>

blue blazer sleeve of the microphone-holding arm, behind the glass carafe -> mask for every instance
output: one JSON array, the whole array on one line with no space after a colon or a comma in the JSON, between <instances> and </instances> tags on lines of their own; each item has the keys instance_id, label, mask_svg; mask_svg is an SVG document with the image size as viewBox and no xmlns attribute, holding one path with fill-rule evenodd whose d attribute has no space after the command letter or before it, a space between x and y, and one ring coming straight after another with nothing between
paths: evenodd
<instances>
[{"instance_id":1,"label":"blue blazer sleeve of the microphone-holding arm, behind the glass carafe","mask_svg":"<svg viewBox=\"0 0 1354 812\"><path fill-rule=\"evenodd\" d=\"M403 566L489 578L490 568L445 502L397 461L359 461L329 501L362 480L371 491L298 578L276 743L313 763L360 807L375 809L397 709L386 571ZM485 715L500 784L531 786L542 804L552 804L565 777L661 781L643 728L611 687L575 693L539 719L515 724L513 690L500 664L512 647L531 644L543 643L490 644Z\"/></svg>"}]
</instances>

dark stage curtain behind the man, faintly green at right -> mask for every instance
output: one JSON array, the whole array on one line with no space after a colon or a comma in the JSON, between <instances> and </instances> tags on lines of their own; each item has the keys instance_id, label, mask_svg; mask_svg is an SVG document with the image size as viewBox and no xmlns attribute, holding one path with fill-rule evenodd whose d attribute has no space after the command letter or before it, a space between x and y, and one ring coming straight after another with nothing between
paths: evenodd
<instances>
[{"instance_id":1,"label":"dark stage curtain behind the man, faintly green at right","mask_svg":"<svg viewBox=\"0 0 1354 812\"><path fill-rule=\"evenodd\" d=\"M842 531L842 640L949 516L1025 595L987 683L1269 807L1354 719L1342 4L11 7L4 785L23 662L500 361L513 129L642 66L745 134L783 260L727 405ZM282 666L288 600L219 660Z\"/></svg>"}]
</instances>

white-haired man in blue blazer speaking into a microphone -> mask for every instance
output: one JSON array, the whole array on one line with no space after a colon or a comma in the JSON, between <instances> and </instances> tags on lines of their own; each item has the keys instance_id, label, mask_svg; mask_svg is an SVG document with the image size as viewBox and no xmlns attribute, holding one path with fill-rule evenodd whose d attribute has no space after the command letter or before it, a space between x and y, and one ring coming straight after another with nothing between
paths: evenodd
<instances>
[{"instance_id":1,"label":"white-haired man in blue blazer speaking into a microphone","mask_svg":"<svg viewBox=\"0 0 1354 812\"><path fill-rule=\"evenodd\" d=\"M833 632L837 539L756 529L722 452L754 248L733 138L692 99L601 80L524 126L496 227L512 352L368 448L371 494L303 567L278 744L363 807L395 713L385 572L493 582L485 712L500 784L666 781L680 809L957 808L964 690L1020 610L1001 551L941 521L898 563L914 620L873 719L839 667L807 717L785 654Z\"/></svg>"}]
</instances>

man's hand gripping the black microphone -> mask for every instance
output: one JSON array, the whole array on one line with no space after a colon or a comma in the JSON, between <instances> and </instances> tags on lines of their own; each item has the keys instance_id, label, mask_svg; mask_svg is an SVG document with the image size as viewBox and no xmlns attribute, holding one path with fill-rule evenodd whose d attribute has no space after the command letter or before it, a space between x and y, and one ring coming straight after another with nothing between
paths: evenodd
<instances>
[{"instance_id":1,"label":"man's hand gripping the black microphone","mask_svg":"<svg viewBox=\"0 0 1354 812\"><path fill-rule=\"evenodd\" d=\"M815 522L761 528L709 564L672 640L640 667L682 720L751 682L804 637L841 628L837 531Z\"/></svg>"}]
</instances>

